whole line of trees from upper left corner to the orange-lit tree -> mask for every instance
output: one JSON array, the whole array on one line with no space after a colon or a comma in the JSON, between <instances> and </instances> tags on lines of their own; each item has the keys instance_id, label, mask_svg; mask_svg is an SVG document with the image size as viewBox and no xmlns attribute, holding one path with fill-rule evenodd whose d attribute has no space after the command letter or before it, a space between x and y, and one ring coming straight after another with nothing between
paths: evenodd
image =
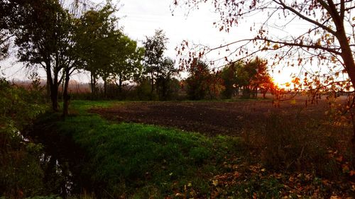
<instances>
[{"instance_id":1,"label":"whole line of trees from upper left corner to the orange-lit tree","mask_svg":"<svg viewBox=\"0 0 355 199\"><path fill-rule=\"evenodd\" d=\"M68 114L68 86L74 72L90 74L89 98L134 100L212 99L263 96L273 89L266 61L232 62L211 71L194 59L182 79L175 61L166 57L168 38L163 30L146 36L139 47L119 27L118 11L110 1L104 6L80 6L58 0L1 1L2 55L12 37L17 57L30 69L46 73L52 108ZM102 85L102 86L99 86ZM62 89L60 89L62 87Z\"/></svg>"}]
</instances>

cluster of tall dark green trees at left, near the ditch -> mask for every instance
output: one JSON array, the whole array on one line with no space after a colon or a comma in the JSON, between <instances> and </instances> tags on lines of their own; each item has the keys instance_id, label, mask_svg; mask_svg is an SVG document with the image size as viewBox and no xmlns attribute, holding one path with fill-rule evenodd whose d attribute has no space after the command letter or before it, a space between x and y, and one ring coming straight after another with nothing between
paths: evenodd
<instances>
[{"instance_id":1,"label":"cluster of tall dark green trees at left, near the ditch","mask_svg":"<svg viewBox=\"0 0 355 199\"><path fill-rule=\"evenodd\" d=\"M110 2L81 10L58 0L11 0L1 1L1 8L1 56L9 49L7 38L13 37L19 60L28 68L45 70L55 111L62 84L63 115L67 115L73 72L84 69L90 73L93 96L99 78L106 95L108 81L115 82L121 91L124 81L141 73L143 47L117 27L116 8Z\"/></svg>"}]
</instances>

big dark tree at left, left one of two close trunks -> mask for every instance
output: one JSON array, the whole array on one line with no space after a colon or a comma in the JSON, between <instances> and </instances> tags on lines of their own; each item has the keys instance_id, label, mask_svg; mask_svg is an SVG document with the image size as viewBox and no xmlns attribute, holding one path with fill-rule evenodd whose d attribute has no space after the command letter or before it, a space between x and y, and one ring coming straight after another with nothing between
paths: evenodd
<instances>
[{"instance_id":1,"label":"big dark tree at left, left one of two close trunks","mask_svg":"<svg viewBox=\"0 0 355 199\"><path fill-rule=\"evenodd\" d=\"M29 4L18 16L21 25L14 28L15 44L21 62L40 64L47 74L47 85L52 108L58 111L58 87L65 65L65 52L70 35L68 24L70 15L55 0L43 1L43 4Z\"/></svg>"}]
</instances>

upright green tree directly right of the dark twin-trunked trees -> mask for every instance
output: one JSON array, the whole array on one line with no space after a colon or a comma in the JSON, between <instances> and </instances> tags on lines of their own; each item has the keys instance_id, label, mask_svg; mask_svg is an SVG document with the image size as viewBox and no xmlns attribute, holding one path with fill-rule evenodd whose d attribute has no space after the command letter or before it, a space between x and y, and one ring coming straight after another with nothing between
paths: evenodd
<instances>
[{"instance_id":1,"label":"upright green tree directly right of the dark twin-trunked trees","mask_svg":"<svg viewBox=\"0 0 355 199\"><path fill-rule=\"evenodd\" d=\"M101 74L104 84L111 72L111 50L114 50L116 34L121 33L115 30L117 18L113 16L116 11L111 4L101 9L90 9L80 17L78 31L80 32L79 44L81 57L84 60L84 69L90 72L90 85L92 96L97 93L97 78Z\"/></svg>"}]
</instances>

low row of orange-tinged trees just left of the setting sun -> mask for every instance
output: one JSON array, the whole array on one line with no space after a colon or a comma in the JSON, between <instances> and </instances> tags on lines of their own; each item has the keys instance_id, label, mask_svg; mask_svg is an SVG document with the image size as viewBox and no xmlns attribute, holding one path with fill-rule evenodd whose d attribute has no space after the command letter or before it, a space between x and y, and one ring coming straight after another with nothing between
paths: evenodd
<instances>
[{"instance_id":1,"label":"low row of orange-tinged trees just left of the setting sun","mask_svg":"<svg viewBox=\"0 0 355 199\"><path fill-rule=\"evenodd\" d=\"M263 59L250 62L232 62L222 71L210 72L207 64L195 59L189 67L190 76L186 79L187 94L192 100L203 98L223 98L239 96L256 98L258 91L266 97L266 92L275 90L268 74L267 61Z\"/></svg>"}]
</instances>

